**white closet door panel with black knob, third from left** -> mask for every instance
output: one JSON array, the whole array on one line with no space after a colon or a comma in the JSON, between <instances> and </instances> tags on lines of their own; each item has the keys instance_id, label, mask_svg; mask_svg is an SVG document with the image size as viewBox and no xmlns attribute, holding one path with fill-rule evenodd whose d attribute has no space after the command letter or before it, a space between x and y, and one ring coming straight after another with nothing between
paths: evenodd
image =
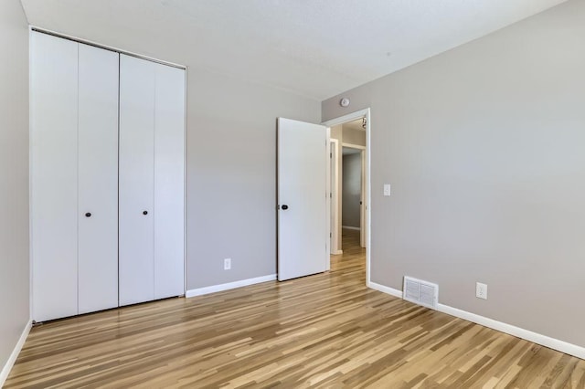
<instances>
[{"instance_id":1,"label":"white closet door panel with black knob, third from left","mask_svg":"<svg viewBox=\"0 0 585 389\"><path fill-rule=\"evenodd\" d=\"M120 305L154 300L154 65L120 56Z\"/></svg>"}]
</instances>

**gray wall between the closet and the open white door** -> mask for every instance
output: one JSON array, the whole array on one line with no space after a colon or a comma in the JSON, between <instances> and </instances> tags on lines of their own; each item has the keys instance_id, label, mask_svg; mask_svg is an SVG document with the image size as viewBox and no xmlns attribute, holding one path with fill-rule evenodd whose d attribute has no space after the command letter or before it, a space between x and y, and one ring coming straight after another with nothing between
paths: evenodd
<instances>
[{"instance_id":1,"label":"gray wall between the closet and the open white door","mask_svg":"<svg viewBox=\"0 0 585 389\"><path fill-rule=\"evenodd\" d=\"M188 78L187 289L275 274L276 118L319 122L320 103L197 71Z\"/></svg>"}]
</instances>

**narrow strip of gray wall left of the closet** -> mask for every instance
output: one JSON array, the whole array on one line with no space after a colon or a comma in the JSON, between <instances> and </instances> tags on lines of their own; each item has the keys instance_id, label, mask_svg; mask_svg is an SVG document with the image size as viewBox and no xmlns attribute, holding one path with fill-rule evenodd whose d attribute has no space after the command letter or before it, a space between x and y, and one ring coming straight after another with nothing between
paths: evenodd
<instances>
[{"instance_id":1,"label":"narrow strip of gray wall left of the closet","mask_svg":"<svg viewBox=\"0 0 585 389\"><path fill-rule=\"evenodd\" d=\"M18 0L0 2L0 370L27 326L28 24Z\"/></svg>"}]
</instances>

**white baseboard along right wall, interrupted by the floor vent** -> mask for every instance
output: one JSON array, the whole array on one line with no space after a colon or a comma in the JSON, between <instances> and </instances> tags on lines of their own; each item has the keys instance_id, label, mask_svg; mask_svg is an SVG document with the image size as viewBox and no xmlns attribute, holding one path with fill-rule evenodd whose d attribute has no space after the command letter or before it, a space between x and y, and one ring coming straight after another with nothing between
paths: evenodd
<instances>
[{"instance_id":1,"label":"white baseboard along right wall, interrupted by the floor vent","mask_svg":"<svg viewBox=\"0 0 585 389\"><path fill-rule=\"evenodd\" d=\"M399 289L389 288L384 285L377 284L375 282L368 282L367 287L376 289L389 295L402 298L402 291ZM448 315L455 316L465 321L472 321L474 323L483 325L484 327L491 328L496 331L505 332L509 335L516 336L518 338L540 344L558 352L564 352L569 355L576 356L580 359L585 359L585 347L578 346L569 342L560 341L555 338L551 338L547 335L537 333L534 331L525 330L520 327L516 327L512 324L507 324L502 321L495 321L494 319L486 318L476 313L468 312L466 310L459 310L457 308L450 307L445 304L439 304L437 310L446 313Z\"/></svg>"}]
</instances>

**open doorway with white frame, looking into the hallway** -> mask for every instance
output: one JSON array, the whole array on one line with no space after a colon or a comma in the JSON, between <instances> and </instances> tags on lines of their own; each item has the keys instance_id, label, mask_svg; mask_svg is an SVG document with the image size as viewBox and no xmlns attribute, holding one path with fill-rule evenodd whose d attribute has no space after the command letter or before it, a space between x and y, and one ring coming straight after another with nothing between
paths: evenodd
<instances>
[{"instance_id":1,"label":"open doorway with white frame, looking into the hallway","mask_svg":"<svg viewBox=\"0 0 585 389\"><path fill-rule=\"evenodd\" d=\"M370 268L369 117L369 109L366 109L323 123L331 129L330 254L343 255L345 248L366 248L367 284Z\"/></svg>"}]
</instances>

